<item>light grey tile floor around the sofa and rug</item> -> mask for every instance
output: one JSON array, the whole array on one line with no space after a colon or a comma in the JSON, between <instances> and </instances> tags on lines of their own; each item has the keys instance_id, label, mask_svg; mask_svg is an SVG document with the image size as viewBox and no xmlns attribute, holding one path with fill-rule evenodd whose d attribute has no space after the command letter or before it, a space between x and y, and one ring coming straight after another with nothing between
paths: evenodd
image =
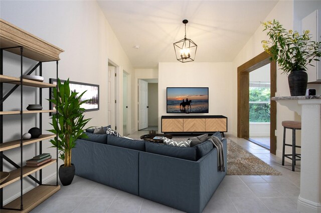
<instances>
[{"instance_id":1,"label":"light grey tile floor around the sofa and rug","mask_svg":"<svg viewBox=\"0 0 321 213\"><path fill-rule=\"evenodd\" d=\"M136 132L130 135L138 137L148 132ZM231 135L232 139L243 148L282 172L282 176L225 176L204 209L204 213L294 213L299 195L300 169L295 172L281 159L251 142ZM33 211L36 212L182 212L141 197L105 186L78 176L69 186L61 189L45 200Z\"/></svg>"}]
</instances>

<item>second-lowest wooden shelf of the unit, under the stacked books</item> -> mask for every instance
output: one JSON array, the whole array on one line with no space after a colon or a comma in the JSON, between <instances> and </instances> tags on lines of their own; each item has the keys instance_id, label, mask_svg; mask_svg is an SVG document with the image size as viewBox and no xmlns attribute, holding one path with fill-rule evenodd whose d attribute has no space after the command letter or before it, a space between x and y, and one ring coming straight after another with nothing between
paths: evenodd
<instances>
[{"instance_id":1,"label":"second-lowest wooden shelf of the unit, under the stacked books","mask_svg":"<svg viewBox=\"0 0 321 213\"><path fill-rule=\"evenodd\" d=\"M50 162L45 163L45 164L43 164L43 165L41 165L41 166L38 166L38 167L27 167L27 166L23 166L23 167L22 167L22 170L23 170L22 176L23 176L23 177L27 177L28 175L33 174L33 173L35 173L36 171L39 171L40 169L43 169L43 168L45 168L45 167L47 167L47 166L55 163L56 161L57 161L56 159L51 159ZM5 186L7 186L7 185L9 185L9 184L11 184L11 183L13 183L13 182L16 182L17 180L20 180L20 168L19 168L19 169L12 170L12 171L10 172L10 176L9 176L4 182L2 182L2 183L0 184L0 188L3 188L3 187L5 187Z\"/></svg>"}]
</instances>

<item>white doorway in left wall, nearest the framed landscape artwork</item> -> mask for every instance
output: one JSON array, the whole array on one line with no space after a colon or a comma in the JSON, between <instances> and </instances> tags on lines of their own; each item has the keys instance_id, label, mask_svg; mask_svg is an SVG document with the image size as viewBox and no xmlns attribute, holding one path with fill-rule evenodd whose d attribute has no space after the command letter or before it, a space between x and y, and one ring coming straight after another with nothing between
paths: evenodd
<instances>
[{"instance_id":1,"label":"white doorway in left wall, nearest the framed landscape artwork","mask_svg":"<svg viewBox=\"0 0 321 213\"><path fill-rule=\"evenodd\" d=\"M107 125L111 129L117 130L117 73L119 67L114 63L108 61L108 98L107 98Z\"/></svg>"}]
</instances>

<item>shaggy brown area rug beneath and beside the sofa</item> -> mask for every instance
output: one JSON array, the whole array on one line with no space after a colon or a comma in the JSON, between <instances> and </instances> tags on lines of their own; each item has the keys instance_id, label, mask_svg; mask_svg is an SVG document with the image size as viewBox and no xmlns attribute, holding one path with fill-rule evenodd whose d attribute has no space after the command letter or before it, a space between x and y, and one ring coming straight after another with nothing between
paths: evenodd
<instances>
[{"instance_id":1,"label":"shaggy brown area rug beneath and beside the sofa","mask_svg":"<svg viewBox=\"0 0 321 213\"><path fill-rule=\"evenodd\" d=\"M138 137L132 138L140 140ZM184 141L188 138L174 136L173 140ZM227 175L282 175L282 173L227 138Z\"/></svg>"}]
</instances>

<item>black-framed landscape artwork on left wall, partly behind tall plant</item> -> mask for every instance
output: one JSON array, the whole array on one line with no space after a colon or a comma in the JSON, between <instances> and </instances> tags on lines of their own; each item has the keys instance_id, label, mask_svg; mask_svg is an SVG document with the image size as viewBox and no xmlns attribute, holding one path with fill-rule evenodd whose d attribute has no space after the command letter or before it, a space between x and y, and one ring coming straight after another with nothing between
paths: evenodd
<instances>
[{"instance_id":1,"label":"black-framed landscape artwork on left wall, partly behind tall plant","mask_svg":"<svg viewBox=\"0 0 321 213\"><path fill-rule=\"evenodd\" d=\"M60 79L60 81L64 82L65 80ZM57 79L50 78L49 82L57 85ZM99 110L99 85L69 81L69 87L71 91L78 92L79 94L87 90L81 98L81 100L90 99L90 101L87 101L86 103L83 103L81 105L81 107L84 108L85 111ZM49 96L51 99L53 98L52 91L53 91L52 88L50 88ZM49 109L56 110L55 105L53 103L50 103Z\"/></svg>"}]
</instances>

